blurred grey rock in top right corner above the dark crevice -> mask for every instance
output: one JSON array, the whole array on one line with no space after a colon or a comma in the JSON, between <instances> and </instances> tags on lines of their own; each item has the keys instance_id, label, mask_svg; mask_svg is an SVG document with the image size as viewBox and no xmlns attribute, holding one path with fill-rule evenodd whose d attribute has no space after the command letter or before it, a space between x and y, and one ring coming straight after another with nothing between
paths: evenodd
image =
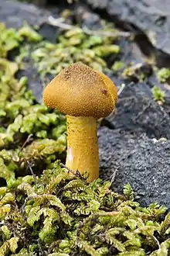
<instances>
[{"instance_id":1,"label":"blurred grey rock in top right corner above the dark crevice","mask_svg":"<svg viewBox=\"0 0 170 256\"><path fill-rule=\"evenodd\" d=\"M86 0L93 8L104 9L109 16L133 24L150 42L170 54L170 2L158 0Z\"/></svg>"}]
</instances>

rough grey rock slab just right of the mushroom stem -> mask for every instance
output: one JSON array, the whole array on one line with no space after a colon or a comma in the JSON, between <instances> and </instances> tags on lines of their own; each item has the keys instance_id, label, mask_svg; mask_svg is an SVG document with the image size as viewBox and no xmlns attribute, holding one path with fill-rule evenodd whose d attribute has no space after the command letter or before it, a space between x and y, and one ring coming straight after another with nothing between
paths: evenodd
<instances>
[{"instance_id":1,"label":"rough grey rock slab just right of the mushroom stem","mask_svg":"<svg viewBox=\"0 0 170 256\"><path fill-rule=\"evenodd\" d=\"M170 141L162 142L122 133L99 130L100 177L114 178L112 188L122 192L130 183L143 206L158 202L170 209ZM115 176L114 176L115 175Z\"/></svg>"}]
</instances>

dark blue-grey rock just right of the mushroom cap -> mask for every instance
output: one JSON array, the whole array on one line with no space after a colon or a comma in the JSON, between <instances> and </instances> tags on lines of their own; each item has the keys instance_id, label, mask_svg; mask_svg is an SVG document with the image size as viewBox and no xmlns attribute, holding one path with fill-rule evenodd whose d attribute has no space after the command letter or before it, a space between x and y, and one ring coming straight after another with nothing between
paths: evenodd
<instances>
[{"instance_id":1,"label":"dark blue-grey rock just right of the mushroom cap","mask_svg":"<svg viewBox=\"0 0 170 256\"><path fill-rule=\"evenodd\" d=\"M122 131L170 139L170 117L152 99L151 88L145 83L126 85L117 102L117 114L108 116L107 121Z\"/></svg>"}]
</instances>

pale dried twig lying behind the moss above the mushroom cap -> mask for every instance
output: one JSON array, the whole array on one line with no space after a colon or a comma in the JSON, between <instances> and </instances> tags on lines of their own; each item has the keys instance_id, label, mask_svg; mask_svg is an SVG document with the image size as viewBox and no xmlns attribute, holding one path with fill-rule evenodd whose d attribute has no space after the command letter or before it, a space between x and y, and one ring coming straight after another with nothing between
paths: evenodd
<instances>
[{"instance_id":1,"label":"pale dried twig lying behind the moss above the mushroom cap","mask_svg":"<svg viewBox=\"0 0 170 256\"><path fill-rule=\"evenodd\" d=\"M70 29L75 29L76 26L66 24L64 22L63 18L55 19L53 16L48 17L48 22L52 26L57 26L60 29L64 30L70 30ZM123 37L130 37L132 34L130 32L121 32L121 31L115 31L115 32L110 32L110 31L103 31L103 30L90 30L87 28L81 28L83 33L86 33L87 35L97 35L97 36L123 36Z\"/></svg>"}]
</instances>

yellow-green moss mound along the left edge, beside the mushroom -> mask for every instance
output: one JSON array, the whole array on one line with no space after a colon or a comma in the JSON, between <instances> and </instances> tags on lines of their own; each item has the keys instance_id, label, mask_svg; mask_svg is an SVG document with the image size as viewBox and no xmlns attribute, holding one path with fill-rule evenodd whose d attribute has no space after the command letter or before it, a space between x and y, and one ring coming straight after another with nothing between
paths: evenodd
<instances>
[{"instance_id":1,"label":"yellow-green moss mound along the left edge, beside the mushroom","mask_svg":"<svg viewBox=\"0 0 170 256\"><path fill-rule=\"evenodd\" d=\"M15 78L20 64L5 58L19 43L37 43L41 36L27 24L19 30L5 29L2 24L0 29L0 176L13 187L15 177L28 172L28 161L34 169L48 166L66 150L66 118L37 104L26 89L27 78Z\"/></svg>"}]
</instances>

